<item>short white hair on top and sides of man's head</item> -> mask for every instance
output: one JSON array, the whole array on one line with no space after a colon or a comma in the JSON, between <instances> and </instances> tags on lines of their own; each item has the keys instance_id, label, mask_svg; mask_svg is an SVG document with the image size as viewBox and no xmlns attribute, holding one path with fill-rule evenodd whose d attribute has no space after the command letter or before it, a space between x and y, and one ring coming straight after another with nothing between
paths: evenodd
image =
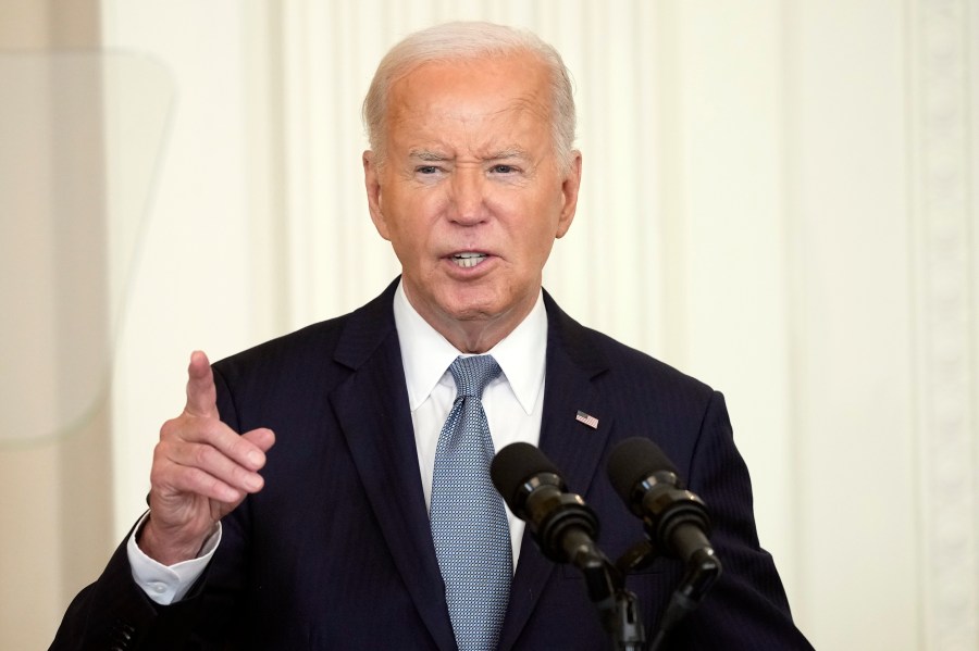
<instances>
[{"instance_id":1,"label":"short white hair on top and sides of man's head","mask_svg":"<svg viewBox=\"0 0 979 651\"><path fill-rule=\"evenodd\" d=\"M561 55L536 34L504 25L458 22L435 25L410 34L393 47L374 73L363 100L363 123L375 155L385 155L385 116L391 87L425 63L453 62L481 57L507 57L526 52L547 70L552 96L552 140L558 165L567 172L574 146L574 97L571 75Z\"/></svg>"}]
</instances>

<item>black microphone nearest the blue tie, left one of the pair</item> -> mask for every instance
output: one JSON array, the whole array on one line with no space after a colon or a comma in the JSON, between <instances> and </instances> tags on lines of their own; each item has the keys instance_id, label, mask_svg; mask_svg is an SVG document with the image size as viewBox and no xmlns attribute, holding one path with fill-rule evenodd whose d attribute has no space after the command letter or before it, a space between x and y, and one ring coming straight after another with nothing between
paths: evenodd
<instances>
[{"instance_id":1,"label":"black microphone nearest the blue tie, left one of the pair","mask_svg":"<svg viewBox=\"0 0 979 651\"><path fill-rule=\"evenodd\" d=\"M595 539L598 518L581 497L568 492L557 467L530 443L511 443L497 452L490 476L507 506L528 529L545 556L582 569L606 565Z\"/></svg>"}]
</instances>

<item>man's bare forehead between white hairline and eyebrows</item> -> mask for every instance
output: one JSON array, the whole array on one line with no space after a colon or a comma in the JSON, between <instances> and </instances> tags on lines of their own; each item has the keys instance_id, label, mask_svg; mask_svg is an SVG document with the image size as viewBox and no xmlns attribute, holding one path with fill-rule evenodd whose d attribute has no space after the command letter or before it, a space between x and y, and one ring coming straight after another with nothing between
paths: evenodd
<instances>
[{"instance_id":1,"label":"man's bare forehead between white hairline and eyebrows","mask_svg":"<svg viewBox=\"0 0 979 651\"><path fill-rule=\"evenodd\" d=\"M388 137L547 133L549 100L547 68L530 54L425 63L392 85Z\"/></svg>"}]
</instances>

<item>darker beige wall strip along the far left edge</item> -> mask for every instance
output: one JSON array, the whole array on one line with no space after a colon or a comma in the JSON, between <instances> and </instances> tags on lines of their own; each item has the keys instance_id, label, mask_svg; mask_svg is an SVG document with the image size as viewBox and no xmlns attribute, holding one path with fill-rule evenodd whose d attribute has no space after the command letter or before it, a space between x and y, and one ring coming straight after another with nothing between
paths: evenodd
<instances>
[{"instance_id":1,"label":"darker beige wall strip along the far left edge","mask_svg":"<svg viewBox=\"0 0 979 651\"><path fill-rule=\"evenodd\" d=\"M96 2L0 4L0 647L50 640L113 544ZM90 58L89 58L90 60Z\"/></svg>"}]
</instances>

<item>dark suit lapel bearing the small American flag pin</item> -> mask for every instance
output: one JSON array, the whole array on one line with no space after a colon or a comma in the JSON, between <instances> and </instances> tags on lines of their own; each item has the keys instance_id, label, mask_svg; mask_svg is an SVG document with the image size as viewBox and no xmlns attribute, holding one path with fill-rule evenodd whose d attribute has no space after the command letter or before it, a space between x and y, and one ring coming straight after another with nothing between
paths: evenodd
<instances>
[{"instance_id":1,"label":"dark suit lapel bearing the small American flag pin","mask_svg":"<svg viewBox=\"0 0 979 651\"><path fill-rule=\"evenodd\" d=\"M592 380L607 364L588 341L588 331L565 314L544 292L547 308L547 362L540 448L561 471L568 489L581 496L597 474L612 426L610 410ZM579 411L598 418L597 428L575 420ZM510 590L510 604L499 648L516 643L556 565L523 536L520 561Z\"/></svg>"}]
</instances>

